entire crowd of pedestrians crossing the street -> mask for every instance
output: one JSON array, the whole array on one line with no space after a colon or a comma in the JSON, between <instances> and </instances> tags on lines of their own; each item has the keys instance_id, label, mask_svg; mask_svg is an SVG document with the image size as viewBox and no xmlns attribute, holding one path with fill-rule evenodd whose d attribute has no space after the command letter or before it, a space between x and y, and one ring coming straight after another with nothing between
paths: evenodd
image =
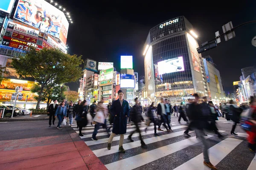
<instances>
[{"instance_id":1,"label":"entire crowd of pedestrians crossing the street","mask_svg":"<svg viewBox=\"0 0 256 170\"><path fill-rule=\"evenodd\" d=\"M186 105L183 102L180 105L170 105L169 100L160 99L160 103L157 106L154 106L154 102L148 106L141 106L138 98L134 99L135 105L130 107L128 102L123 99L124 93L118 91L118 99L109 103L108 105L104 104L104 101L93 102L90 107L87 105L87 101L81 100L78 101L76 105L71 101L67 103L66 100L63 100L59 105L57 100L53 100L53 103L48 107L49 115L49 126L54 125L55 119L58 117L57 129L61 128L61 123L63 119L69 118L69 125L73 124L73 119L76 118L77 128L79 128L79 136L83 136L81 133L82 127L87 126L91 123L91 126L94 126L94 131L92 134L92 140L97 141L96 135L99 128L105 128L108 132L108 150L111 150L111 143L113 137L117 134L120 135L119 139L119 150L121 153L125 153L125 148L123 148L124 134L127 132L127 122L131 120L134 122L135 130L132 131L128 139L130 142L134 142L132 136L135 132L139 133L141 147L147 148L148 146L143 141L139 123L145 122L147 126L154 124L154 136L159 136L158 131L163 131L160 127L163 123L163 126L166 128L168 133L173 132L171 128L171 116L179 116L178 123L180 123L181 118L189 124L187 129L184 132L184 136L191 137L189 135L189 130L195 131L196 138L200 139L203 143L204 151L204 165L213 170L217 168L211 164L209 155L208 155L208 144L205 139L207 132L211 131L215 133L219 138L223 138L221 133L219 133L218 127L216 125L216 120L219 117L225 117L227 121L233 121L234 124L230 133L232 135L238 135L235 130L237 124L242 123L242 128L248 133L248 147L251 152L256 151L256 99L252 98L250 105L242 104L237 106L233 100L230 100L229 103L224 103L223 105L214 105L212 101L208 101L207 97L204 97L203 100L199 103L198 94L193 95L195 99L188 99ZM246 113L245 113L246 112ZM90 114L89 114L90 113ZM145 113L145 117L143 115ZM244 113L244 114L243 114ZM107 128L107 121L109 120L111 127ZM158 128L157 128L158 126ZM111 132L112 128L112 132ZM111 134L110 134L111 132ZM145 133L147 132L147 127L145 128Z\"/></svg>"}]
</instances>

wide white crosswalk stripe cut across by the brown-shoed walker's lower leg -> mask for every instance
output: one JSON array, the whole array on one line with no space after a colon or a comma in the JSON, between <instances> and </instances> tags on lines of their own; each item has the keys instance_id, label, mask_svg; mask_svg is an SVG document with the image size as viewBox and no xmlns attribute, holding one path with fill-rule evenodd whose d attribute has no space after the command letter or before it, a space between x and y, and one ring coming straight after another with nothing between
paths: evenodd
<instances>
[{"instance_id":1,"label":"wide white crosswalk stripe cut across by the brown-shoed walker's lower leg","mask_svg":"<svg viewBox=\"0 0 256 170\"><path fill-rule=\"evenodd\" d=\"M243 140L227 138L219 142L218 144L215 144L213 147L208 149L210 162L214 165L218 164L241 142L243 142ZM203 153L201 153L195 158L190 159L186 163L175 168L175 170L203 170L205 167L203 161L204 155Z\"/></svg>"}]
</instances>

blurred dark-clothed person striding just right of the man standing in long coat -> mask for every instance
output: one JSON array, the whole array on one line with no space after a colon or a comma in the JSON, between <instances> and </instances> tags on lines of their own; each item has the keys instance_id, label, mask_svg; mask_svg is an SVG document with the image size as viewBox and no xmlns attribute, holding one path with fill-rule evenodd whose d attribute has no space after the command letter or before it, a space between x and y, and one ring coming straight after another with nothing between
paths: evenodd
<instances>
[{"instance_id":1,"label":"blurred dark-clothed person striding just right of the man standing in long coat","mask_svg":"<svg viewBox=\"0 0 256 170\"><path fill-rule=\"evenodd\" d=\"M144 121L143 116L141 115L141 108L139 106L139 101L138 98L136 97L134 99L135 101L135 105L133 106L133 113L132 113L132 117L131 117L131 121L134 122L134 125L136 126L136 130L134 130L129 136L128 139L130 139L131 142L134 142L133 139L131 139L131 136L134 134L134 132L138 132L140 134L140 128L138 123L140 123L141 121ZM130 114L131 115L131 114ZM142 139L142 136L140 134L140 143L141 143L141 147L143 148L148 148L147 145L145 144L145 142Z\"/></svg>"}]
</instances>

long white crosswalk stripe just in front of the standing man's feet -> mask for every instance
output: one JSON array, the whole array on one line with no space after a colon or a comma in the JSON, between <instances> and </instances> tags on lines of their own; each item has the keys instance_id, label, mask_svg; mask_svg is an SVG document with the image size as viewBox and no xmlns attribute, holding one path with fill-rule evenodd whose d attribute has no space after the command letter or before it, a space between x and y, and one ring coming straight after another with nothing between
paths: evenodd
<instances>
[{"instance_id":1,"label":"long white crosswalk stripe just in front of the standing man's feet","mask_svg":"<svg viewBox=\"0 0 256 170\"><path fill-rule=\"evenodd\" d=\"M210 137L212 136L206 136L207 139ZM177 152L178 150L182 150L198 142L200 142L200 140L196 139L194 136L192 138L185 139L173 144L169 144L154 150L150 150L148 152L141 153L139 155L132 156L127 159L122 159L111 164L106 164L105 166L109 170L132 170L144 164L148 164L151 161L155 161L157 159L163 158L164 156L168 156L172 153Z\"/></svg>"}]
</instances>

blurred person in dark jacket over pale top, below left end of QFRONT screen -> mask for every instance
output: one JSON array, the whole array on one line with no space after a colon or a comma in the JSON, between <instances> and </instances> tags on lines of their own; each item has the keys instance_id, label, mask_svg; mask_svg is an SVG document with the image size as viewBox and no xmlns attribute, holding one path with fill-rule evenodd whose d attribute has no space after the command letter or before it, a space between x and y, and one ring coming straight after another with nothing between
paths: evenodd
<instances>
[{"instance_id":1,"label":"blurred person in dark jacket over pale top, below left end of QFRONT screen","mask_svg":"<svg viewBox=\"0 0 256 170\"><path fill-rule=\"evenodd\" d=\"M157 105L157 114L161 117L161 121L158 124L158 129L157 130L163 131L160 128L162 123L163 123L163 126L166 128L167 132L173 131L170 124L167 122L168 115L166 113L166 105L163 102L163 98L161 98L161 102ZM168 127L166 126L166 123L167 123Z\"/></svg>"}]
</instances>

